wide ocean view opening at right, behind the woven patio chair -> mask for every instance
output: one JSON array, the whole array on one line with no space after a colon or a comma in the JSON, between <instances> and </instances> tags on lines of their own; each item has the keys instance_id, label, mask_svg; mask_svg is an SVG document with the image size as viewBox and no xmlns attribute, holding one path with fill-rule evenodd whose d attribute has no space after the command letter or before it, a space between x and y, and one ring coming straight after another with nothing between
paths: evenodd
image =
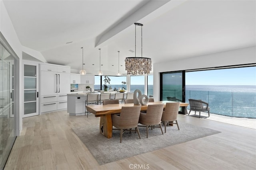
<instances>
[{"instance_id":1,"label":"wide ocean view opening at right, behind the woven patio chair","mask_svg":"<svg viewBox=\"0 0 256 170\"><path fill-rule=\"evenodd\" d=\"M211 113L256 118L256 66L186 72L189 98L208 102Z\"/></svg>"}]
</instances>

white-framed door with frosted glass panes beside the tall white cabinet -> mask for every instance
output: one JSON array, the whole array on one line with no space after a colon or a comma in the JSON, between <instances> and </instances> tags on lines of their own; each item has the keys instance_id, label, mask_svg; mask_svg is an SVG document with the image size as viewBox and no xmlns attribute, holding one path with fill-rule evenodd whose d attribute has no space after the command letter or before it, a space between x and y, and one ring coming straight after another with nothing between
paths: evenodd
<instances>
[{"instance_id":1,"label":"white-framed door with frosted glass panes beside the tall white cabinet","mask_svg":"<svg viewBox=\"0 0 256 170\"><path fill-rule=\"evenodd\" d=\"M24 62L23 117L39 115L38 95L38 64Z\"/></svg>"}]
</instances>

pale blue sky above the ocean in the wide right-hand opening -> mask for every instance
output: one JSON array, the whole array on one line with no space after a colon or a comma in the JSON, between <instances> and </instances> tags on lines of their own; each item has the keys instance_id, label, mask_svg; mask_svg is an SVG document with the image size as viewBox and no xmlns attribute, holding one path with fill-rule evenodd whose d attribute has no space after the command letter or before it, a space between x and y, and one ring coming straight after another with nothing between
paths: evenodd
<instances>
[{"instance_id":1,"label":"pale blue sky above the ocean in the wide right-hand opening","mask_svg":"<svg viewBox=\"0 0 256 170\"><path fill-rule=\"evenodd\" d=\"M186 72L186 85L254 85L256 66Z\"/></svg>"}]
</instances>

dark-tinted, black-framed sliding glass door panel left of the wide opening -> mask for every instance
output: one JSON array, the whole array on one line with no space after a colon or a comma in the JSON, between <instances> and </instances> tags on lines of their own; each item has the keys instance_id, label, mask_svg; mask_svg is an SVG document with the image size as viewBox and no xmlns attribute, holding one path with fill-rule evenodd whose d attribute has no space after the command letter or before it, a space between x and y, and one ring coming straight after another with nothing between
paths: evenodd
<instances>
[{"instance_id":1,"label":"dark-tinted, black-framed sliding glass door panel left of the wide opening","mask_svg":"<svg viewBox=\"0 0 256 170\"><path fill-rule=\"evenodd\" d=\"M162 101L174 101L184 102L185 101L185 72L165 72L160 74L160 99ZM180 112L184 113L182 108Z\"/></svg>"}]
</instances>

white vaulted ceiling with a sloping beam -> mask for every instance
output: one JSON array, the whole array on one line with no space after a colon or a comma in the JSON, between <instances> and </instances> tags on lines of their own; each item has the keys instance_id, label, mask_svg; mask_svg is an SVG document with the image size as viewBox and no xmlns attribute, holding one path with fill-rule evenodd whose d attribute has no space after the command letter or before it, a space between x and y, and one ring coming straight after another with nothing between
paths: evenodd
<instances>
[{"instance_id":1,"label":"white vaulted ceiling with a sloping beam","mask_svg":"<svg viewBox=\"0 0 256 170\"><path fill-rule=\"evenodd\" d=\"M154 63L256 45L255 0L4 0L21 44L48 63L88 74L126 73L134 57L135 26L142 27L143 57ZM141 28L136 29L141 56ZM67 42L71 42L68 43ZM94 64L94 65L93 65ZM114 65L114 66L112 66Z\"/></svg>"}]
</instances>

